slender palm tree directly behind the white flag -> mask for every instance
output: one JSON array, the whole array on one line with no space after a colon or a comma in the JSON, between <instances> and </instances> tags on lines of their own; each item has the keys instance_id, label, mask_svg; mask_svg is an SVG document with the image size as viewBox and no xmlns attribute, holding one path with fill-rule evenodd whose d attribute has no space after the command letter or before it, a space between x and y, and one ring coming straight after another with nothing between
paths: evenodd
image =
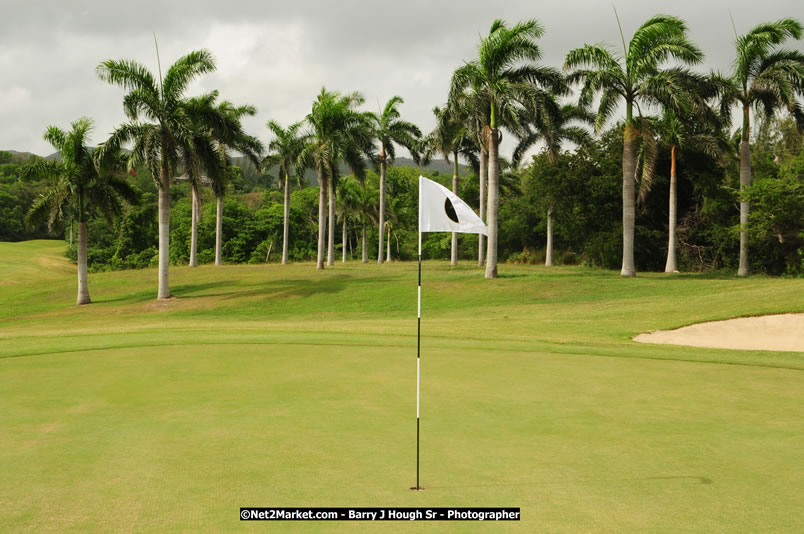
<instances>
[{"instance_id":1,"label":"slender palm tree directly behind the white flag","mask_svg":"<svg viewBox=\"0 0 804 534\"><path fill-rule=\"evenodd\" d=\"M469 110L466 104L466 100L460 99L456 100L453 105L433 108L436 126L425 142L425 161L431 159L434 153L438 153L443 155L446 162L449 163L450 155L452 156L452 192L456 195L458 194L458 156L462 155L473 166L478 166L475 155L476 147L471 137ZM450 265L457 264L458 234L453 232Z\"/></svg>"}]
</instances>

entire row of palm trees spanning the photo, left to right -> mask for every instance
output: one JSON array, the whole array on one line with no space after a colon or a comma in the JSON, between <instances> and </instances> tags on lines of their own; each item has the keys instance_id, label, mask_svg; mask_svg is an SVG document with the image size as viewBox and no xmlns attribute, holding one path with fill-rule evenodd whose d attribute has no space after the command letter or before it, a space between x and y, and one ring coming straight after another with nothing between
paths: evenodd
<instances>
[{"instance_id":1,"label":"entire row of palm trees spanning the photo, left to right","mask_svg":"<svg viewBox=\"0 0 804 534\"><path fill-rule=\"evenodd\" d=\"M619 19L617 20L619 25ZM276 166L284 182L284 231L282 263L288 260L288 215L291 182L300 181L306 169L316 171L319 183L318 251L316 266L323 269L335 261L335 215L338 211L358 211L362 224L362 259L368 261L366 225L373 219L379 229L377 262L383 263L383 245L390 248L386 170L393 164L398 146L405 147L417 162L435 155L454 164L453 191L458 189L458 158L477 169L480 181L481 218L488 223L488 240L481 237L478 265L485 264L486 278L497 277L498 208L500 195L500 154L502 131L517 141L513 155L516 165L534 146L543 144L549 158L560 157L562 144L571 141L588 144L620 105L625 106L623 125L622 204L623 276L634 276L634 226L638 196L644 197L651 185L656 160L657 136L668 141L671 151L669 236L666 270L676 269L676 153L680 147L695 144L711 154L725 157L729 151L726 130L732 108L743 113L740 130L740 184L751 183L749 154L752 108L772 115L787 109L804 127L804 109L797 100L804 94L804 54L780 48L788 39L800 39L802 25L794 19L764 23L736 37L736 59L729 75L704 75L689 67L699 64L703 53L689 39L684 21L657 15L646 21L626 42L622 28L622 51L608 45L585 45L571 50L563 72L539 64L538 45L544 33L536 20L508 26L495 20L486 37L481 38L478 55L465 62L452 75L445 105L436 107L436 126L423 135L414 124L401 118L401 97L394 96L378 113L361 111L360 93L341 94L322 89L304 120L283 128L268 122L274 138L268 155L260 141L248 135L241 119L253 115L252 106L218 102L217 91L188 98L184 93L191 81L215 69L206 51L187 54L162 76L161 65L155 77L135 61L102 62L98 76L127 90L123 107L129 119L94 153L86 148L91 123L82 119L72 132L55 127L45 138L59 150L59 163L40 164L30 173L52 174L59 186L34 206L32 217L50 213L51 223L77 218L79 222L79 303L89 302L86 289L86 209L91 199L106 213L119 210L121 199L131 199L132 191L122 178L128 169L147 167L158 187L159 212L159 290L158 298L170 297L168 284L168 239L170 186L180 169L193 194L193 224L190 264L196 265L196 227L200 210L200 186L211 185L217 199L217 237L215 263L221 263L222 198L231 179L231 151L246 155L257 166ZM158 57L158 49L157 49ZM568 104L573 87L579 88L577 103ZM593 110L593 103L597 109ZM658 109L660 117L648 114ZM121 149L131 146L128 158ZM127 159L127 162L126 162ZM379 207L366 190L367 167L380 172ZM349 168L353 181L341 179L341 165ZM339 184L343 185L339 188ZM637 194L639 184L639 195ZM59 192L61 191L61 192ZM336 194L336 191L338 193ZM374 204L375 206L377 204ZM748 203L740 206L740 268L748 274L745 225ZM68 213L69 212L69 213ZM552 209L548 207L547 263L552 262ZM345 217L342 216L345 220ZM72 220L71 219L71 220ZM345 227L344 227L345 229ZM386 237L386 230L389 231ZM83 234L82 234L83 231ZM345 231L344 231L345 234ZM81 237L83 235L83 237ZM82 241L83 239L83 241ZM345 241L345 238L344 238ZM83 243L83 255L82 245ZM346 243L344 243L344 254ZM389 251L386 255L390 256ZM457 262L457 238L452 240L452 263ZM83 264L82 264L83 262ZM83 272L83 282L82 273ZM83 286L82 286L83 284ZM81 287L84 287L82 297Z\"/></svg>"}]
</instances>

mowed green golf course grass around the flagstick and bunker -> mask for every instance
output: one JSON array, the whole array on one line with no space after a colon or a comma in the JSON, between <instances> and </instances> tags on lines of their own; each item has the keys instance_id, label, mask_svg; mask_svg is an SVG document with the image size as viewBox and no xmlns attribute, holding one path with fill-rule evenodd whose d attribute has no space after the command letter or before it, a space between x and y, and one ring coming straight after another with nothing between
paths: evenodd
<instances>
[{"instance_id":1,"label":"mowed green golf course grass around the flagstick and bunker","mask_svg":"<svg viewBox=\"0 0 804 534\"><path fill-rule=\"evenodd\" d=\"M804 281L425 262L91 274L0 243L0 531L800 532L804 354L631 341ZM241 523L518 506L519 523Z\"/></svg>"}]
</instances>

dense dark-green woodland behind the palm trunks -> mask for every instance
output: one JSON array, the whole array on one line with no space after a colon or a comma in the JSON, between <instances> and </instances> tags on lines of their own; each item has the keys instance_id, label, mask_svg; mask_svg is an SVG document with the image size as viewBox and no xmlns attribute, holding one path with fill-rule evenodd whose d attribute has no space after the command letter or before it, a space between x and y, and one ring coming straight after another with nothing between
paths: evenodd
<instances>
[{"instance_id":1,"label":"dense dark-green woodland behind the palm trunks","mask_svg":"<svg viewBox=\"0 0 804 534\"><path fill-rule=\"evenodd\" d=\"M802 136L788 118L760 125L755 137L752 143L754 183L748 192L754 206L749 225L754 270L773 275L801 275L804 273ZM618 268L622 248L621 157L622 125L618 125L604 132L589 147L561 152L555 159L542 151L518 169L505 168L501 177L501 260L544 262L547 212L552 207L555 263ZM736 271L739 262L738 162L733 159L723 166L717 158L695 147L680 150L679 159L683 170L678 177L678 269ZM670 166L668 151L660 151L651 192L636 206L635 257L640 270L661 271L665 265ZM442 185L452 186L452 177L437 171L407 166L388 169L393 260L416 258L416 180L420 173ZM99 214L90 217L89 234L93 238L88 254L92 270L157 264L156 189L147 171L130 179L141 193L138 205L127 208L113 224ZM240 179L224 200L224 263L281 262L283 184L269 175L263 175L260 180L262 184L273 185L248 184ZM7 189L8 184L4 183L3 192L25 191L14 198L27 198L28 202L32 202L36 198L35 191L43 187L39 182L17 179L10 183L14 189ZM479 202L478 184L475 172L461 176L458 193L470 205ZM376 225L379 185L379 173L368 170L365 188L370 201L367 206L361 206L360 199L356 198L362 191L360 183L351 175L341 181L339 192L347 193L336 198L337 220L339 227L344 217L346 220L348 261L361 260L364 242L369 257L379 254ZM176 265L189 262L192 212L189 188L187 183L181 182L171 188L170 261ZM290 193L289 261L312 261L317 256L318 192L315 186L297 186ZM341 204L342 197L346 197L345 206ZM369 222L365 241L362 235L364 213L368 214ZM214 193L202 189L198 223L198 261L201 264L213 263L215 259L215 215ZM11 221L13 217L4 215L3 228ZM22 232L21 239L53 236L47 234L44 226L25 230L22 219L16 224ZM55 235L69 241L69 227L56 230ZM3 238L16 239L8 233ZM335 247L337 256L342 259L341 239L339 232ZM451 236L425 236L423 255L426 259L447 259L450 250ZM76 253L76 244L68 247L68 254L74 261ZM458 259L474 263L477 237L460 236Z\"/></svg>"}]
</instances>

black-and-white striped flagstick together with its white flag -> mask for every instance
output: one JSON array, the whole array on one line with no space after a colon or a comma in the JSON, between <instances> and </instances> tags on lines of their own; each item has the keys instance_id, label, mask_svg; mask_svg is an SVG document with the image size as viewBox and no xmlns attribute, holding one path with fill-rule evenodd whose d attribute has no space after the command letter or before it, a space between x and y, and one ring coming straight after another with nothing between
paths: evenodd
<instances>
[{"instance_id":1,"label":"black-and-white striped flagstick together with its white flag","mask_svg":"<svg viewBox=\"0 0 804 534\"><path fill-rule=\"evenodd\" d=\"M426 196L424 195L426 193ZM416 485L419 491L419 422L422 376L422 232L458 232L488 235L480 217L441 184L419 176L419 296L416 333Z\"/></svg>"}]
</instances>

